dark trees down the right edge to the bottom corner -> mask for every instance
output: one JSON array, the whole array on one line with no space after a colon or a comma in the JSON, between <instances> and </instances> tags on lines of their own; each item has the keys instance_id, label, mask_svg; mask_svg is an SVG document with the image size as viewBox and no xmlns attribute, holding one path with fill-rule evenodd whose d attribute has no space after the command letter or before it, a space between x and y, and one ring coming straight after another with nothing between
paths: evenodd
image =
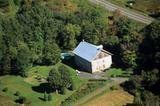
<instances>
[{"instance_id":1,"label":"dark trees down the right edge to the bottom corner","mask_svg":"<svg viewBox=\"0 0 160 106\"><path fill-rule=\"evenodd\" d=\"M160 21L144 29L135 75L123 84L135 96L131 106L160 105Z\"/></svg>"}]
</instances>

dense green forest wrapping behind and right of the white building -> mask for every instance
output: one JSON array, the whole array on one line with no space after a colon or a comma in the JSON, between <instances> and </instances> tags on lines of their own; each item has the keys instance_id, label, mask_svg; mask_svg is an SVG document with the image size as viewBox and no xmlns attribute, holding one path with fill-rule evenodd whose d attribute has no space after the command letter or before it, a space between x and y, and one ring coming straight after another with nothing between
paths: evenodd
<instances>
[{"instance_id":1,"label":"dense green forest wrapping behind and right of the white building","mask_svg":"<svg viewBox=\"0 0 160 106\"><path fill-rule=\"evenodd\" d=\"M114 54L114 67L133 71L122 84L131 106L160 104L160 20L148 26L86 0L0 0L0 75L27 76L27 68L54 65L60 53L85 39ZM141 27L142 26L142 27Z\"/></svg>"}]
</instances>

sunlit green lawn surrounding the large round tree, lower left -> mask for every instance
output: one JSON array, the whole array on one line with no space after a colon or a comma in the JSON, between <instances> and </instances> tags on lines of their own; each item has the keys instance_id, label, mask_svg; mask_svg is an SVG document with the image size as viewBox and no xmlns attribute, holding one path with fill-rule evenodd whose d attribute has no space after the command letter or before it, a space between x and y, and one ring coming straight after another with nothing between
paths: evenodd
<instances>
[{"instance_id":1,"label":"sunlit green lawn surrounding the large round tree, lower left","mask_svg":"<svg viewBox=\"0 0 160 106\"><path fill-rule=\"evenodd\" d=\"M27 100L31 102L31 106L57 106L58 104L60 104L61 101L69 97L75 91L67 90L65 95L51 92L52 101L45 102L43 101L44 93L35 90L34 88L39 89L40 84L44 83L35 79L35 76L39 75L41 77L47 78L50 70L53 67L58 68L60 65L62 65L62 63L58 63L55 66L35 66L33 68L28 69L27 78L22 78L20 76L10 76L10 75L2 76L0 77L1 81L0 95L9 97L12 100L16 100L18 99L18 97L15 96L14 94L16 91L19 91L22 96L25 96ZM68 68L70 69L71 77L75 83L76 88L81 87L81 85L83 85L87 80L78 78L75 70L73 70L70 67ZM5 87L8 88L7 92L2 91L2 89L4 89Z\"/></svg>"}]
</instances>

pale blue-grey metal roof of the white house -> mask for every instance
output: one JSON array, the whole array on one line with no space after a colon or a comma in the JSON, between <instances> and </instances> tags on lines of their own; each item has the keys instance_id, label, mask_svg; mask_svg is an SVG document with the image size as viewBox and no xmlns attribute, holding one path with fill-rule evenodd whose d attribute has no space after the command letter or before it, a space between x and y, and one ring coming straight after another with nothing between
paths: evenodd
<instances>
[{"instance_id":1,"label":"pale blue-grey metal roof of the white house","mask_svg":"<svg viewBox=\"0 0 160 106\"><path fill-rule=\"evenodd\" d=\"M103 46L95 46L88 42L82 41L79 45L74 49L73 53L84 58L87 61L92 61L97 53L99 53L103 49Z\"/></svg>"}]
</instances>

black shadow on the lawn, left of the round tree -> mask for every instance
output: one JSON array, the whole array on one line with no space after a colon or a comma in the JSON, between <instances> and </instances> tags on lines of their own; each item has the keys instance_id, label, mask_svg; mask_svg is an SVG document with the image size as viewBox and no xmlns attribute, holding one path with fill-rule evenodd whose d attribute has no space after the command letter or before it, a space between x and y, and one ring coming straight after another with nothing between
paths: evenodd
<instances>
[{"instance_id":1,"label":"black shadow on the lawn, left of the round tree","mask_svg":"<svg viewBox=\"0 0 160 106\"><path fill-rule=\"evenodd\" d=\"M34 90L35 92L39 92L39 93L44 93L44 92L51 93L55 91L49 86L49 83L42 83L39 86L33 86L32 90Z\"/></svg>"}]
</instances>

